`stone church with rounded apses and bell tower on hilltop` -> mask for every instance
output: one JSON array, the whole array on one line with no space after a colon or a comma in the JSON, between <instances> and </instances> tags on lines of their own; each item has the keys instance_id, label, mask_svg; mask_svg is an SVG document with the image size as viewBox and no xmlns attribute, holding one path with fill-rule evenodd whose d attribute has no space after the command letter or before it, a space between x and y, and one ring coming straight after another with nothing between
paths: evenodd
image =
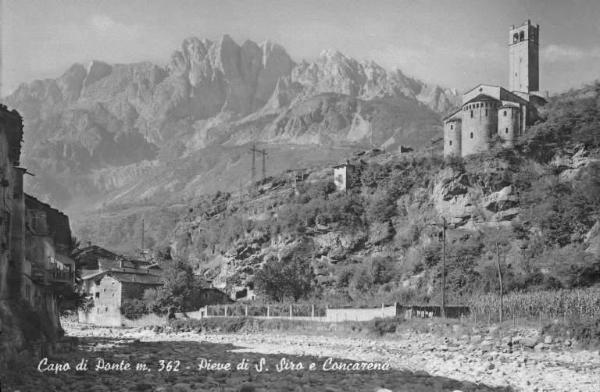
<instances>
[{"instance_id":1,"label":"stone church with rounded apses and bell tower on hilltop","mask_svg":"<svg viewBox=\"0 0 600 392\"><path fill-rule=\"evenodd\" d=\"M444 156L487 151L497 135L505 147L535 123L546 100L539 93L539 25L527 20L509 33L508 89L480 84L463 94L462 106L444 118Z\"/></svg>"}]
</instances>

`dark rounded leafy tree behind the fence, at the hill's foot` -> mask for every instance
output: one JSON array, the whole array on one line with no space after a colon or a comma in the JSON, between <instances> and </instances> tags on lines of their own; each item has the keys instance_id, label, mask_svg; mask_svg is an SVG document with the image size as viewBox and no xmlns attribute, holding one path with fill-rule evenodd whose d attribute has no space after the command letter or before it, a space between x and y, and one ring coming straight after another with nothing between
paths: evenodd
<instances>
[{"instance_id":1,"label":"dark rounded leafy tree behind the fence, at the hill's foot","mask_svg":"<svg viewBox=\"0 0 600 392\"><path fill-rule=\"evenodd\" d=\"M256 273L256 289L272 300L298 301L314 289L315 274L310 263L299 256L288 260L271 259Z\"/></svg>"}]
</instances>

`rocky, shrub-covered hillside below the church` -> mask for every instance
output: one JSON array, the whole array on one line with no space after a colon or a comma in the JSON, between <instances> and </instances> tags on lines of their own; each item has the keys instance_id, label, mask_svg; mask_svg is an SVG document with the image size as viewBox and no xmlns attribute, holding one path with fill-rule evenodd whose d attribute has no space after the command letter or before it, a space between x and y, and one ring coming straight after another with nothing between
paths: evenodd
<instances>
[{"instance_id":1,"label":"rocky, shrub-covered hillside below the church","mask_svg":"<svg viewBox=\"0 0 600 392\"><path fill-rule=\"evenodd\" d=\"M288 173L249 194L206 196L178 211L155 249L228 287L256 283L265 266L300 263L315 282L309 295L330 302L430 301L439 295L445 218L451 300L496 292L498 257L506 291L593 285L599 107L600 84L553 98L515 150L446 161L354 154L358 182L346 193L335 191L327 166L295 187Z\"/></svg>"}]
</instances>

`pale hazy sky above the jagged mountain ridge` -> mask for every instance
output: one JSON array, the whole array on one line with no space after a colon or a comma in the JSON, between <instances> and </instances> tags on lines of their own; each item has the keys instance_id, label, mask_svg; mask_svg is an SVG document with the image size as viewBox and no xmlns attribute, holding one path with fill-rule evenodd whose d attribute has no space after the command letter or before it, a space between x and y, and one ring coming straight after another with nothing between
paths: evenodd
<instances>
[{"instance_id":1,"label":"pale hazy sky above the jagged mountain ridge","mask_svg":"<svg viewBox=\"0 0 600 392\"><path fill-rule=\"evenodd\" d=\"M325 49L465 91L508 85L508 30L540 25L540 90L600 79L599 0L0 0L2 95L73 63L166 65L191 36Z\"/></svg>"}]
</instances>

